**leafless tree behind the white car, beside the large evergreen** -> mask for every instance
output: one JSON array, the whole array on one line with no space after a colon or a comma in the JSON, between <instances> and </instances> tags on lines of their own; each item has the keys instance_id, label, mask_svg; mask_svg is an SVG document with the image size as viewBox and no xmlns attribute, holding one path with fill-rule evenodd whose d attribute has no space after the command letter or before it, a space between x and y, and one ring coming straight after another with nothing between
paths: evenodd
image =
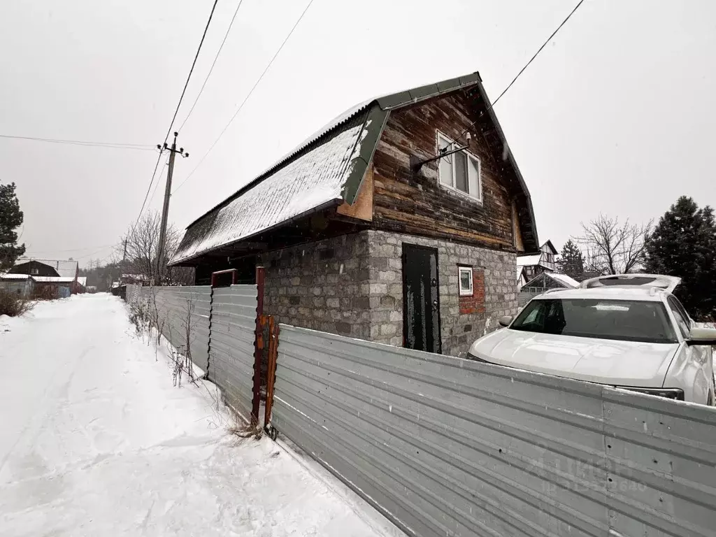
<instances>
[{"instance_id":1,"label":"leafless tree behind the white car, beside the large evergreen","mask_svg":"<svg viewBox=\"0 0 716 537\"><path fill-rule=\"evenodd\" d=\"M584 268L600 274L629 274L642 269L646 260L645 243L652 221L637 226L619 223L619 218L599 215L599 218L582 223L582 233L574 241L582 246Z\"/></svg>"}]
</instances>

